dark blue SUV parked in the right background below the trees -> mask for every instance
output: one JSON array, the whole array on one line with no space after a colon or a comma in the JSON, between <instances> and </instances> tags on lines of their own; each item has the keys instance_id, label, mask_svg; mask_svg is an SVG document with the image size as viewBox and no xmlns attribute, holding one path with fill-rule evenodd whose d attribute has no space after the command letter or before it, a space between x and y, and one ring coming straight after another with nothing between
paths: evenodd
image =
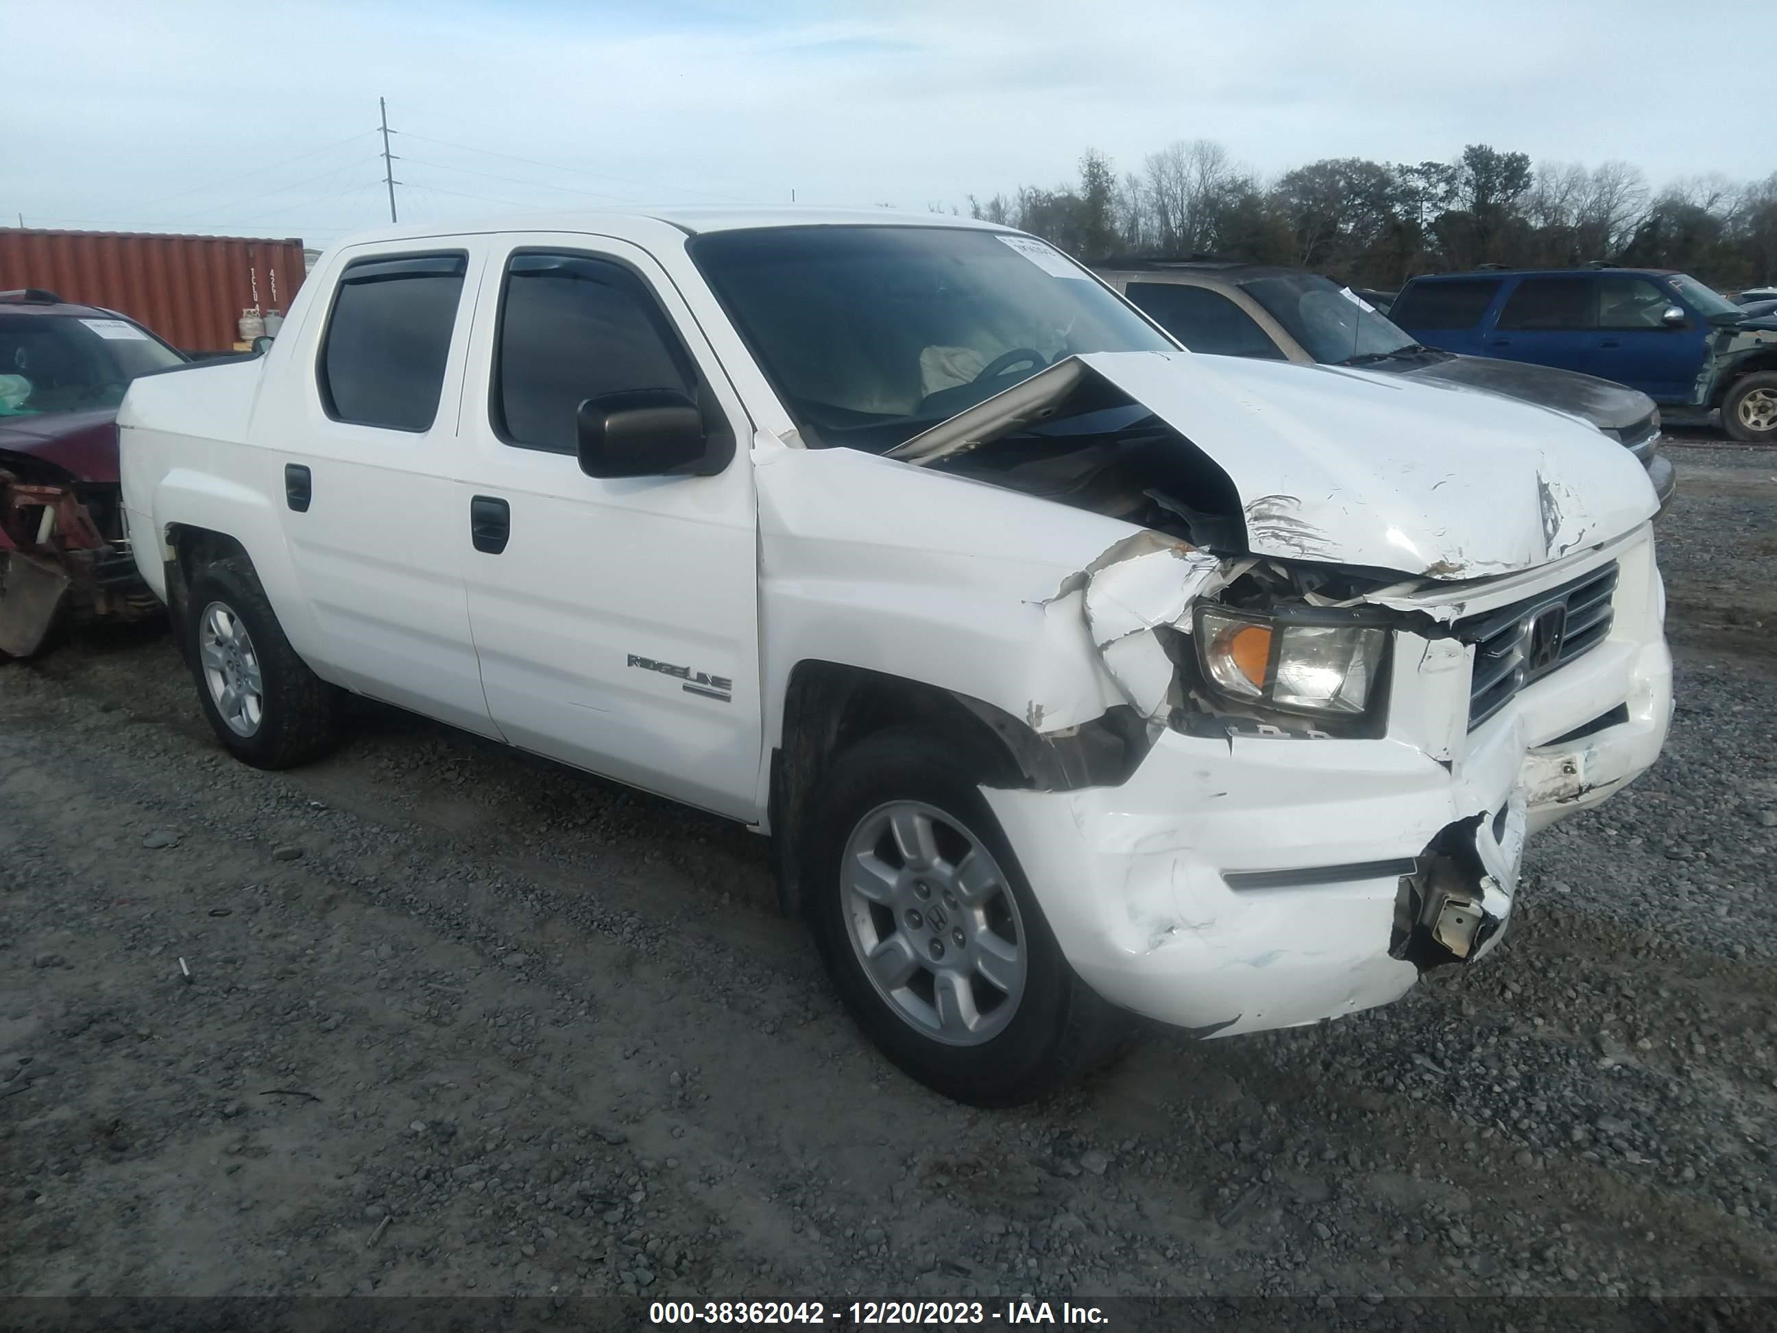
<instances>
[{"instance_id":1,"label":"dark blue SUV parked in the right background below the trees","mask_svg":"<svg viewBox=\"0 0 1777 1333\"><path fill-rule=\"evenodd\" d=\"M1446 352L1578 370L1640 389L1669 419L1720 411L1736 439L1777 441L1777 318L1749 316L1688 274L1439 274L1407 283L1388 315Z\"/></svg>"}]
</instances>

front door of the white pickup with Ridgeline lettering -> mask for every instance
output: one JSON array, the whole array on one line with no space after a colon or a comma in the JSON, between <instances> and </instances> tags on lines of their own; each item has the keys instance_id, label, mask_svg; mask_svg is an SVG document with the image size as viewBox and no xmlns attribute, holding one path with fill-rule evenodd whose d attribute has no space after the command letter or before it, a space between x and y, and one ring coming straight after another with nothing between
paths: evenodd
<instances>
[{"instance_id":1,"label":"front door of the white pickup with Ridgeline lettering","mask_svg":"<svg viewBox=\"0 0 1777 1333\"><path fill-rule=\"evenodd\" d=\"M457 494L489 711L526 750L752 819L759 547L741 403L638 247L533 236L489 263ZM661 387L729 432L725 469L586 476L579 403Z\"/></svg>"}]
</instances>

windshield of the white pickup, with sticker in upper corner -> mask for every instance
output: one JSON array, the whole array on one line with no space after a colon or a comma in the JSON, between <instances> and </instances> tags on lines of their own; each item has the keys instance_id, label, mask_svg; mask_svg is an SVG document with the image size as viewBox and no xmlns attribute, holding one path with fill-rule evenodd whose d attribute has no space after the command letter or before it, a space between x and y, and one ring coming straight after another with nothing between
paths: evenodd
<instances>
[{"instance_id":1,"label":"windshield of the white pickup, with sticker in upper corner","mask_svg":"<svg viewBox=\"0 0 1777 1333\"><path fill-rule=\"evenodd\" d=\"M1178 354L1031 236L769 227L689 252L816 448L890 450L1075 352Z\"/></svg>"}]
</instances>

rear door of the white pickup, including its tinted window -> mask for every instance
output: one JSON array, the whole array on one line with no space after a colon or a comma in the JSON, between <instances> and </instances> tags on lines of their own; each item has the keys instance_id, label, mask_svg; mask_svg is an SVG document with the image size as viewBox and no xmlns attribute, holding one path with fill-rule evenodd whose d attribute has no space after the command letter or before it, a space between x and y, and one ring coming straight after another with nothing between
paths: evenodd
<instances>
[{"instance_id":1,"label":"rear door of the white pickup, including its tinted window","mask_svg":"<svg viewBox=\"0 0 1777 1333\"><path fill-rule=\"evenodd\" d=\"M304 656L371 698L492 734L451 523L483 247L347 251L254 432L316 633Z\"/></svg>"}]
</instances>

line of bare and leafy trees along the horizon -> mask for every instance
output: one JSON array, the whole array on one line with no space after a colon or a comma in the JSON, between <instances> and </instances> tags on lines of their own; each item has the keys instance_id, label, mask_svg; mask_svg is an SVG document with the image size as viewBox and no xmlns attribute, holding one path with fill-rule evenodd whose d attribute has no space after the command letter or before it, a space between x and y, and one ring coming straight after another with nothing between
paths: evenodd
<instances>
[{"instance_id":1,"label":"line of bare and leafy trees along the horizon","mask_svg":"<svg viewBox=\"0 0 1777 1333\"><path fill-rule=\"evenodd\" d=\"M1633 164L1541 162L1468 144L1452 162L1311 162L1262 185L1226 148L1180 139L1114 176L1088 151L1073 183L968 199L968 212L1073 254L1116 243L1303 263L1347 281L1484 261L1564 267L1608 258L1681 268L1720 286L1777 279L1777 172L1720 174L1654 192Z\"/></svg>"}]
</instances>

